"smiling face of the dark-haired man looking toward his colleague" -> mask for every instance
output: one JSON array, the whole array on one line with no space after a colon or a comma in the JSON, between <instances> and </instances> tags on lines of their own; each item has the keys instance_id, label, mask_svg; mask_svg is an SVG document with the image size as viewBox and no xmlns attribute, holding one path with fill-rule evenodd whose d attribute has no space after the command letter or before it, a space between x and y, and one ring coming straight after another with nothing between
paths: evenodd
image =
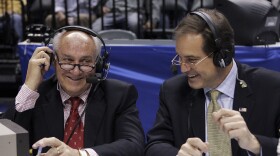
<instances>
[{"instance_id":1,"label":"smiling face of the dark-haired man looking toward his colleague","mask_svg":"<svg viewBox=\"0 0 280 156\"><path fill-rule=\"evenodd\" d=\"M182 64L181 71L187 74L188 83L194 89L216 88L225 79L232 65L226 68L216 67L212 55L207 57L202 47L203 38L200 34L181 35L176 39L176 51L180 60L193 64L199 62L196 65ZM202 60L203 58L205 59Z\"/></svg>"}]
</instances>

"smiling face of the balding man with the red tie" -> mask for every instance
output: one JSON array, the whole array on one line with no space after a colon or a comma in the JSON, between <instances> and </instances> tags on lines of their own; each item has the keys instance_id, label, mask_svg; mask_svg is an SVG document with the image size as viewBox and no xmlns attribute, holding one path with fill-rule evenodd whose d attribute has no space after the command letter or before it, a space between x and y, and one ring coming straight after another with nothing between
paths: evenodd
<instances>
[{"instance_id":1,"label":"smiling face of the balding man with the red tie","mask_svg":"<svg viewBox=\"0 0 280 156\"><path fill-rule=\"evenodd\" d=\"M56 51L58 59L55 61L57 79L67 94L79 96L89 88L86 78L94 74L95 69L86 73L75 66L73 70L66 71L61 69L58 60L60 63L93 65L97 56L96 45L92 36L78 31L63 34L59 45Z\"/></svg>"}]
</instances>

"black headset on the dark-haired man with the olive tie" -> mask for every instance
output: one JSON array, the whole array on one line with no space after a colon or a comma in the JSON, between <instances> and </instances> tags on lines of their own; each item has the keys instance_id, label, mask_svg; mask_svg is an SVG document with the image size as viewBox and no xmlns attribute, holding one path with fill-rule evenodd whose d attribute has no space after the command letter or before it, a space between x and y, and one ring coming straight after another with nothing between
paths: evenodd
<instances>
[{"instance_id":1,"label":"black headset on the dark-haired man with the olive tie","mask_svg":"<svg viewBox=\"0 0 280 156\"><path fill-rule=\"evenodd\" d=\"M227 46L223 46L225 43L223 43L221 37L219 36L219 32L217 31L217 28L213 23L212 18L203 11L194 11L191 12L190 14L195 14L198 15L200 18L202 18L207 23L211 32L213 33L215 45L218 49L217 51L213 52L214 64L221 68L225 68L226 66L228 66L232 61L233 52L231 49L225 48ZM230 45L233 46L232 43Z\"/></svg>"}]
</instances>

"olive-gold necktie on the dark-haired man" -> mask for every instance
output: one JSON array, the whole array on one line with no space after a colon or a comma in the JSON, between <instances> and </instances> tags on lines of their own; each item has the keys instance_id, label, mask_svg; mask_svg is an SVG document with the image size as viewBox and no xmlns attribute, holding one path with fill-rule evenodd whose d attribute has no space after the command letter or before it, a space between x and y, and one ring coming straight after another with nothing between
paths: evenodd
<instances>
[{"instance_id":1,"label":"olive-gold necktie on the dark-haired man","mask_svg":"<svg viewBox=\"0 0 280 156\"><path fill-rule=\"evenodd\" d=\"M231 142L229 136L227 136L218 125L214 123L212 119L212 113L221 109L217 102L217 98L220 92L217 90L211 90L211 101L208 106L207 112L207 136L209 143L209 155L210 156L231 156Z\"/></svg>"}]
</instances>

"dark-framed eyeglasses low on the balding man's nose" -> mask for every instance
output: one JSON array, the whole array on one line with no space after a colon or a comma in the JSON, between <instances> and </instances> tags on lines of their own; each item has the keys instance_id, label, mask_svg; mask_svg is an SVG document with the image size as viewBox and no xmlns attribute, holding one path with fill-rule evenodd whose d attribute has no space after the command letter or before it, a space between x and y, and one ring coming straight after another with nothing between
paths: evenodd
<instances>
[{"instance_id":1,"label":"dark-framed eyeglasses low on the balding man's nose","mask_svg":"<svg viewBox=\"0 0 280 156\"><path fill-rule=\"evenodd\" d=\"M87 72L91 72L95 68L95 65L96 65L96 64L85 65L85 64L63 63L63 62L59 61L59 58L56 54L55 54L55 59L57 59L57 62L59 64L60 68L63 70L66 70L66 71L71 71L77 66L80 71L87 73Z\"/></svg>"}]
</instances>

